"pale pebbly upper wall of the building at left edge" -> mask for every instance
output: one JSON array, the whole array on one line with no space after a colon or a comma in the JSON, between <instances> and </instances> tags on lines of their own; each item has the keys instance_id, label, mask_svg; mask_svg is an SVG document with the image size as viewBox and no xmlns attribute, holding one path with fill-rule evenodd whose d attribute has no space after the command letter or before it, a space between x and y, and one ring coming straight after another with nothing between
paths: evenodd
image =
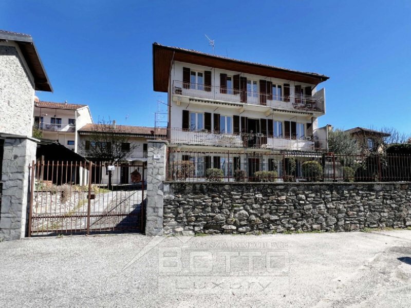
<instances>
[{"instance_id":1,"label":"pale pebbly upper wall of the building at left edge","mask_svg":"<svg viewBox=\"0 0 411 308\"><path fill-rule=\"evenodd\" d=\"M3 43L3 44L13 44ZM17 46L0 43L0 132L31 136L34 83Z\"/></svg>"}]
</instances>

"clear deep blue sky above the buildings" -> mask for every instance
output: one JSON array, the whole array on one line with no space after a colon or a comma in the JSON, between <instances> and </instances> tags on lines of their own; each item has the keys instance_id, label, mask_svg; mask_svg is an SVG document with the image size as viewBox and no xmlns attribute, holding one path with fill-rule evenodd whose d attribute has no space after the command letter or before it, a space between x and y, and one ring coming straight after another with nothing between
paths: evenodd
<instances>
[{"instance_id":1,"label":"clear deep blue sky above the buildings","mask_svg":"<svg viewBox=\"0 0 411 308\"><path fill-rule=\"evenodd\" d=\"M54 88L94 120L154 125L152 43L330 76L320 125L411 133L411 1L2 0L0 29L31 34ZM128 114L128 118L127 118Z\"/></svg>"}]
</instances>

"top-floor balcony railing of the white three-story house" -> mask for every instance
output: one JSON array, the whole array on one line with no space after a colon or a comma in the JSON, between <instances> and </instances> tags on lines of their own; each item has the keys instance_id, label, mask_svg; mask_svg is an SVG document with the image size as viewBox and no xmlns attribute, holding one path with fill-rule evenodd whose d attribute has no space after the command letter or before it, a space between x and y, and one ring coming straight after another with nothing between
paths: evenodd
<instances>
[{"instance_id":1,"label":"top-floor balcony railing of the white three-story house","mask_svg":"<svg viewBox=\"0 0 411 308\"><path fill-rule=\"evenodd\" d=\"M318 93L318 94L317 94ZM173 94L188 97L218 100L225 102L235 102L268 106L275 109L289 111L309 111L324 113L324 97L320 96L321 91L312 96L293 94L275 95L261 92L250 92L245 89L231 89L227 87L205 86L203 84L173 82Z\"/></svg>"}]
</instances>

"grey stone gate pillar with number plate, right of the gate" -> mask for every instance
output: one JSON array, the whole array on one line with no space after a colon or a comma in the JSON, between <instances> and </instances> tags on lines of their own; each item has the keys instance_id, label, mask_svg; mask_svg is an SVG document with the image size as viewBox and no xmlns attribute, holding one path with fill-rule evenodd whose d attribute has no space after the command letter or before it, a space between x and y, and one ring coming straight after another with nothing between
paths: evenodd
<instances>
[{"instance_id":1,"label":"grey stone gate pillar with number plate, right of the gate","mask_svg":"<svg viewBox=\"0 0 411 308\"><path fill-rule=\"evenodd\" d=\"M145 234L163 235L163 182L167 141L152 140L147 145L147 206Z\"/></svg>"}]
</instances>

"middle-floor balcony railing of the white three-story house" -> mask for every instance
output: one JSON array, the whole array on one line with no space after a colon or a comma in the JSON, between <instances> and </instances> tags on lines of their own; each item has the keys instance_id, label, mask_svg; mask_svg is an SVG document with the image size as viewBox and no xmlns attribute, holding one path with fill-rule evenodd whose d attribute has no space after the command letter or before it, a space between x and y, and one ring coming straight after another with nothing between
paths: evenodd
<instances>
[{"instance_id":1,"label":"middle-floor balcony railing of the white three-story house","mask_svg":"<svg viewBox=\"0 0 411 308\"><path fill-rule=\"evenodd\" d=\"M262 133L216 133L178 128L169 129L167 136L170 144L304 151L325 151L327 149L325 140L304 136L284 138Z\"/></svg>"}]
</instances>

